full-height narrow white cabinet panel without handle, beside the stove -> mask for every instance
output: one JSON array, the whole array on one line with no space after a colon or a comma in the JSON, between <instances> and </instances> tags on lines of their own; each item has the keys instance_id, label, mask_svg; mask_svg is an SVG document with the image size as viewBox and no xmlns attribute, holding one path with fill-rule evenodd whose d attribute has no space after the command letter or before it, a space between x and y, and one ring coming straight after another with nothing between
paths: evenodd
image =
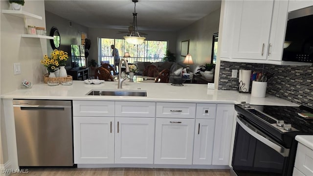
<instances>
[{"instance_id":1,"label":"full-height narrow white cabinet panel without handle, beside the stove","mask_svg":"<svg viewBox=\"0 0 313 176\"><path fill-rule=\"evenodd\" d=\"M212 160L213 165L228 165L233 120L233 104L217 105Z\"/></svg>"}]
</instances>

